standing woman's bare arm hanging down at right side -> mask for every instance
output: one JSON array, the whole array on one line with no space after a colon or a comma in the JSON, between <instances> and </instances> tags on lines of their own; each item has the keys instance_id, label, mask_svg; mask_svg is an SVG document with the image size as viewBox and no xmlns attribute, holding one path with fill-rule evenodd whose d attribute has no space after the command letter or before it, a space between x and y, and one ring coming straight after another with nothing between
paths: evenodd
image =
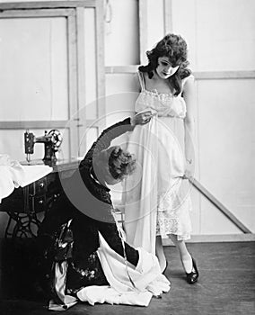
<instances>
[{"instance_id":1,"label":"standing woman's bare arm hanging down at right side","mask_svg":"<svg viewBox=\"0 0 255 315\"><path fill-rule=\"evenodd\" d=\"M194 139L195 139L195 111L196 111L196 99L195 99L195 79L194 76L189 76L184 88L183 98L186 103L187 112L184 120L184 141L185 141L185 157L186 157L186 176L192 175L195 165L195 151L194 151Z\"/></svg>"}]
</instances>

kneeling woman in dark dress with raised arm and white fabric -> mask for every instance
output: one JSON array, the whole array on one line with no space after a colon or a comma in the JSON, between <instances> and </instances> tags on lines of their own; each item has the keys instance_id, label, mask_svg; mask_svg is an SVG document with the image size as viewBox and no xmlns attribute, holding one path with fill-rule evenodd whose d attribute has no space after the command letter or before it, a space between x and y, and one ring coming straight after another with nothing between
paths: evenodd
<instances>
[{"instance_id":1,"label":"kneeling woman in dark dress with raised arm and white fabric","mask_svg":"<svg viewBox=\"0 0 255 315\"><path fill-rule=\"evenodd\" d=\"M153 295L169 291L157 258L124 241L108 187L136 166L134 157L110 147L110 141L150 119L151 112L143 112L104 130L75 174L62 181L62 193L38 234L50 310L65 310L79 300L148 305Z\"/></svg>"}]
</instances>

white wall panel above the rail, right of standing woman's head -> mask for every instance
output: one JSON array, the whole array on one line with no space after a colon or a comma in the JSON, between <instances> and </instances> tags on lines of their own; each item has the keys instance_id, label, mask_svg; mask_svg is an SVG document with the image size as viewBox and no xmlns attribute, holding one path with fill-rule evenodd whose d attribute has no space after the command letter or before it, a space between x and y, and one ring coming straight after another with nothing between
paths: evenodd
<instances>
[{"instance_id":1,"label":"white wall panel above the rail, right of standing woman's head","mask_svg":"<svg viewBox=\"0 0 255 315\"><path fill-rule=\"evenodd\" d=\"M172 27L189 43L196 71L255 68L253 0L171 0Z\"/></svg>"}]
</instances>

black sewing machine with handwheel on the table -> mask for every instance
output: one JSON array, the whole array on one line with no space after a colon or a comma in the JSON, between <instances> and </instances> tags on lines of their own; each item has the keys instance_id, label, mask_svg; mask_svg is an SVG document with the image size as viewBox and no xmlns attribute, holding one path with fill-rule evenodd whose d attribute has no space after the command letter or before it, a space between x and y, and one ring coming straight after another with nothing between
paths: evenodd
<instances>
[{"instance_id":1,"label":"black sewing machine with handwheel on the table","mask_svg":"<svg viewBox=\"0 0 255 315\"><path fill-rule=\"evenodd\" d=\"M25 154L27 155L27 161L31 161L31 154L34 152L35 143L44 143L45 155L43 161L45 163L52 163L57 161L55 153L62 143L62 136L58 130L50 130L47 132L45 130L44 136L35 137L32 132L26 130L24 133L24 143L25 143Z\"/></svg>"}]
</instances>

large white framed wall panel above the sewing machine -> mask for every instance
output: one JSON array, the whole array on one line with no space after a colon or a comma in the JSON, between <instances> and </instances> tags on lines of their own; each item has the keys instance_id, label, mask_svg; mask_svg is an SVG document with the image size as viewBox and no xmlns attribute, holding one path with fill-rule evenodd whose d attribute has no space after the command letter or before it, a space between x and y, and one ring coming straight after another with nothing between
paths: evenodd
<instances>
[{"instance_id":1,"label":"large white framed wall panel above the sewing machine","mask_svg":"<svg viewBox=\"0 0 255 315\"><path fill-rule=\"evenodd\" d=\"M0 38L0 120L66 119L66 18L1 19Z\"/></svg>"}]
</instances>

